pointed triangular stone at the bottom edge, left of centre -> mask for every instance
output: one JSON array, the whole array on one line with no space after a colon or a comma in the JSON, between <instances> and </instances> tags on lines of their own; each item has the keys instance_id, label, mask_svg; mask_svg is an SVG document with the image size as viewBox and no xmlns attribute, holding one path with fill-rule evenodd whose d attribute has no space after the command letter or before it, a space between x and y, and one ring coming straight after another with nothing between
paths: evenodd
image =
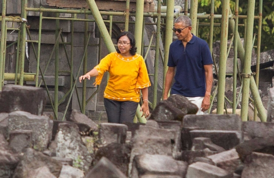
<instances>
[{"instance_id":1,"label":"pointed triangular stone at the bottom edge, left of centre","mask_svg":"<svg viewBox=\"0 0 274 178\"><path fill-rule=\"evenodd\" d=\"M126 176L110 161L102 157L100 161L86 174L85 178L126 178Z\"/></svg>"}]
</instances>

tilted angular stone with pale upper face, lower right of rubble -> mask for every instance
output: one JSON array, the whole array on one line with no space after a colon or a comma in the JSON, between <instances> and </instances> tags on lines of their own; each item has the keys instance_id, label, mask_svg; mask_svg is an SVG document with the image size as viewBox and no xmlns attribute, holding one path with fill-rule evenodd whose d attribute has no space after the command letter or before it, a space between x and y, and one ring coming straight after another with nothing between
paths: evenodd
<instances>
[{"instance_id":1,"label":"tilted angular stone with pale upper face, lower right of rubble","mask_svg":"<svg viewBox=\"0 0 274 178\"><path fill-rule=\"evenodd\" d=\"M231 149L211 156L207 156L207 158L210 158L216 166L231 173L233 173L239 166L242 165L236 149Z\"/></svg>"}]
</instances>

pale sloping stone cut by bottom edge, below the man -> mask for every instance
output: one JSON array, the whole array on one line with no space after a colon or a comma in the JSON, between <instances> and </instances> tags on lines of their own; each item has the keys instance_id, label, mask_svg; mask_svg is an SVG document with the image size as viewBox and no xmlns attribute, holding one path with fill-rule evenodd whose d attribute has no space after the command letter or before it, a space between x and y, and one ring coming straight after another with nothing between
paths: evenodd
<instances>
[{"instance_id":1,"label":"pale sloping stone cut by bottom edge, below the man","mask_svg":"<svg viewBox=\"0 0 274 178\"><path fill-rule=\"evenodd\" d=\"M186 178L231 178L233 173L204 162L195 162L188 166Z\"/></svg>"}]
</instances>

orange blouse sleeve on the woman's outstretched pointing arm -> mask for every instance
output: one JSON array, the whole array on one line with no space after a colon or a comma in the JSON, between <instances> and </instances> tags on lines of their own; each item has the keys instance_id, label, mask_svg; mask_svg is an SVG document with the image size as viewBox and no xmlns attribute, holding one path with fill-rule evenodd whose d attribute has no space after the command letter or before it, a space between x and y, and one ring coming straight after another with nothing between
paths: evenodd
<instances>
[{"instance_id":1,"label":"orange blouse sleeve on the woman's outstretched pointing arm","mask_svg":"<svg viewBox=\"0 0 274 178\"><path fill-rule=\"evenodd\" d=\"M98 76L95 78L95 82L93 83L95 86L99 85L102 81L104 73L109 71L112 60L112 53L107 55L105 58L101 59L100 63L94 67L98 71Z\"/></svg>"}]
</instances>

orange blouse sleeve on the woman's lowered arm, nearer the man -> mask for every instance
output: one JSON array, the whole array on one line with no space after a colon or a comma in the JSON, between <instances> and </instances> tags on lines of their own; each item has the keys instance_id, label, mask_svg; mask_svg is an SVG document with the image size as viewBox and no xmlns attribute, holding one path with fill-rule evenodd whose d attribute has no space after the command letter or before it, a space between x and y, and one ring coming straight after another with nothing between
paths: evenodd
<instances>
[{"instance_id":1,"label":"orange blouse sleeve on the woman's lowered arm, nearer the man","mask_svg":"<svg viewBox=\"0 0 274 178\"><path fill-rule=\"evenodd\" d=\"M150 85L151 84L150 84L145 60L142 57L141 62L140 62L140 67L139 67L139 75L137 77L137 82L136 82L136 87L135 87L136 92L140 91L140 89L142 89L142 88L149 87Z\"/></svg>"}]
</instances>

